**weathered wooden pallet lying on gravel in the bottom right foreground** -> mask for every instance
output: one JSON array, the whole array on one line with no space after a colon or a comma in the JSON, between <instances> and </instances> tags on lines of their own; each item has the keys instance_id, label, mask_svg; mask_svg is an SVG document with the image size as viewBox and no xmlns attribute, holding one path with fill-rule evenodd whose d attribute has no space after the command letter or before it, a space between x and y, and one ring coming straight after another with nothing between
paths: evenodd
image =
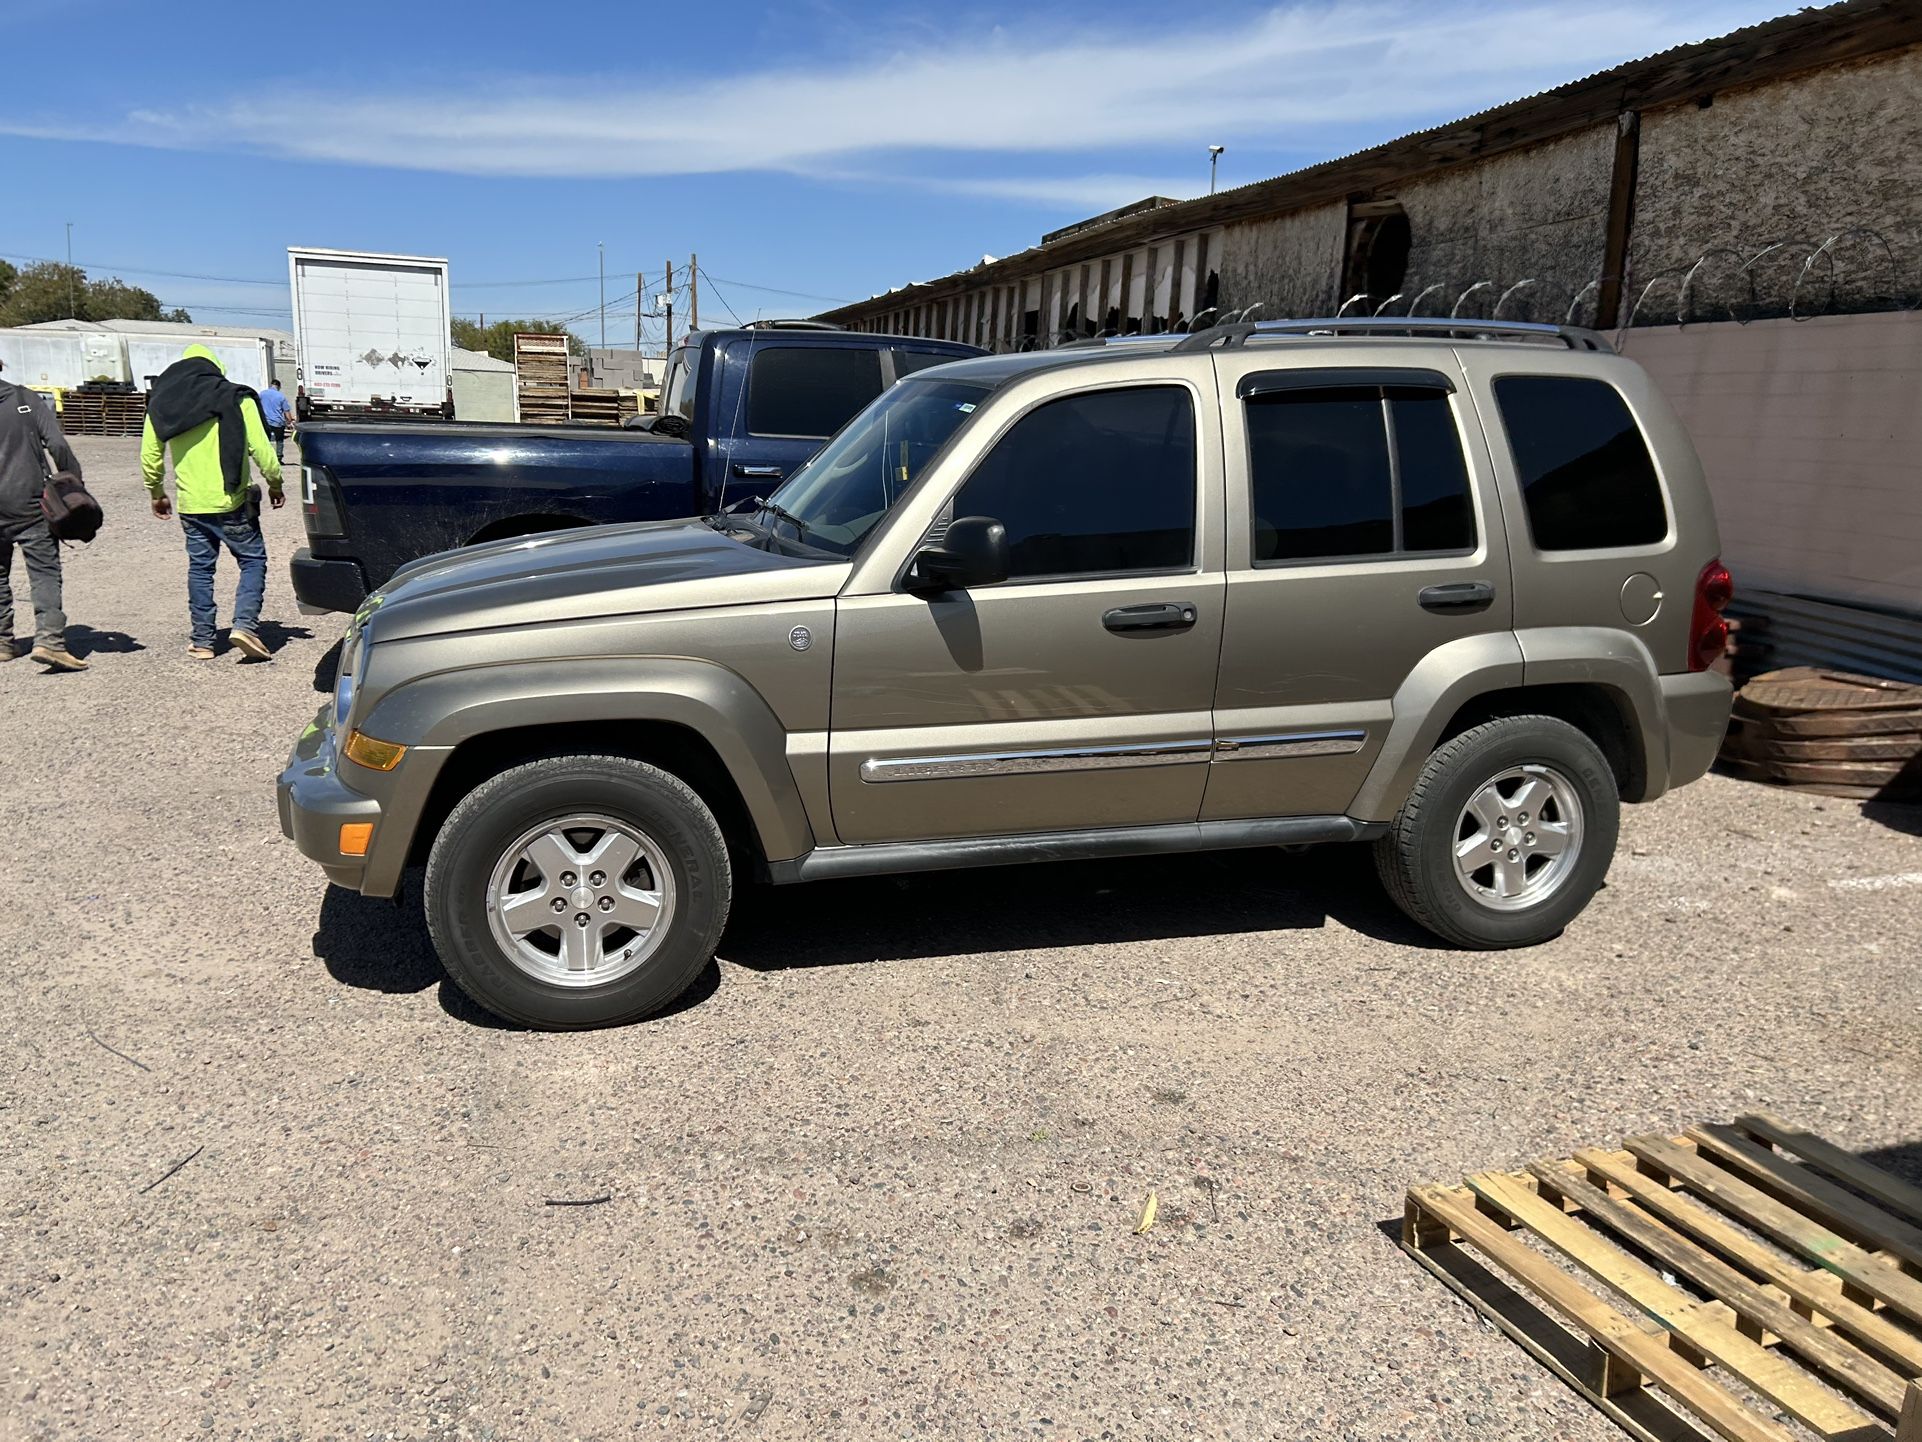
<instances>
[{"instance_id":1,"label":"weathered wooden pallet lying on gravel in the bottom right foreground","mask_svg":"<svg viewBox=\"0 0 1922 1442\"><path fill-rule=\"evenodd\" d=\"M1401 1246L1641 1442L1922 1442L1922 1188L1774 1117L1411 1186Z\"/></svg>"}]
</instances>

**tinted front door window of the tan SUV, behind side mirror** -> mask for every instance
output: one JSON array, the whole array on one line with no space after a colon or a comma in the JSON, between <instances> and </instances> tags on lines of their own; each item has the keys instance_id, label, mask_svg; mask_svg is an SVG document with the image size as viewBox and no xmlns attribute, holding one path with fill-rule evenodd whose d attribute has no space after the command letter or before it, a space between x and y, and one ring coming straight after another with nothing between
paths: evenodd
<instances>
[{"instance_id":1,"label":"tinted front door window of the tan SUV, behind side mirror","mask_svg":"<svg viewBox=\"0 0 1922 1442\"><path fill-rule=\"evenodd\" d=\"M1009 575L1176 571L1195 548L1195 415L1182 386L1036 406L953 502L1007 527Z\"/></svg>"}]
</instances>

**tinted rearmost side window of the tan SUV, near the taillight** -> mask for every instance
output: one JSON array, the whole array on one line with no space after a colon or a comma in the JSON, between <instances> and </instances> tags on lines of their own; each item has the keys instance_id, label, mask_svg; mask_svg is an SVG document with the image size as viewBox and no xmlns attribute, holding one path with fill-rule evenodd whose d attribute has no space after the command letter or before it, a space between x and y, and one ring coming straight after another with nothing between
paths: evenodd
<instances>
[{"instance_id":1,"label":"tinted rearmost side window of the tan SUV, near the taillight","mask_svg":"<svg viewBox=\"0 0 1922 1442\"><path fill-rule=\"evenodd\" d=\"M1505 375L1495 404L1538 550L1653 546L1668 535L1655 461L1614 386L1580 375Z\"/></svg>"}]
</instances>

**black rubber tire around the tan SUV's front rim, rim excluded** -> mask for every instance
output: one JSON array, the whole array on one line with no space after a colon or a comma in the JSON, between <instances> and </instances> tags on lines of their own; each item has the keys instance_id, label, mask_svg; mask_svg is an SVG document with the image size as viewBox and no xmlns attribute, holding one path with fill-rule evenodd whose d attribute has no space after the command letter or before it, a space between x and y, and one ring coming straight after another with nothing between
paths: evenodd
<instances>
[{"instance_id":1,"label":"black rubber tire around the tan SUV's front rim, rim excluded","mask_svg":"<svg viewBox=\"0 0 1922 1442\"><path fill-rule=\"evenodd\" d=\"M698 809L696 809L698 808ZM542 821L600 813L644 831L677 888L659 950L605 986L555 986L521 971L488 925L486 890L502 852ZM427 911L448 975L488 1011L529 1027L573 1031L638 1021L684 992L713 957L730 877L713 815L692 790L640 763L534 763L471 792L448 817L427 863Z\"/></svg>"}]
</instances>

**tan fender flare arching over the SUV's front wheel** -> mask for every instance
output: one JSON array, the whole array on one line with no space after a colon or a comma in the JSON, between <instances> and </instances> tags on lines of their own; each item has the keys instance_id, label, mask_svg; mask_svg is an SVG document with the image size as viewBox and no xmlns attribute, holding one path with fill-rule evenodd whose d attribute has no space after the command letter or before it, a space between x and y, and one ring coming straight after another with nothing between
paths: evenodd
<instances>
[{"instance_id":1,"label":"tan fender flare arching over the SUV's front wheel","mask_svg":"<svg viewBox=\"0 0 1922 1442\"><path fill-rule=\"evenodd\" d=\"M446 758L490 733L571 721L661 721L692 731L727 767L769 861L813 848L786 727L746 679L713 661L596 656L436 671L381 696L363 725Z\"/></svg>"}]
</instances>

